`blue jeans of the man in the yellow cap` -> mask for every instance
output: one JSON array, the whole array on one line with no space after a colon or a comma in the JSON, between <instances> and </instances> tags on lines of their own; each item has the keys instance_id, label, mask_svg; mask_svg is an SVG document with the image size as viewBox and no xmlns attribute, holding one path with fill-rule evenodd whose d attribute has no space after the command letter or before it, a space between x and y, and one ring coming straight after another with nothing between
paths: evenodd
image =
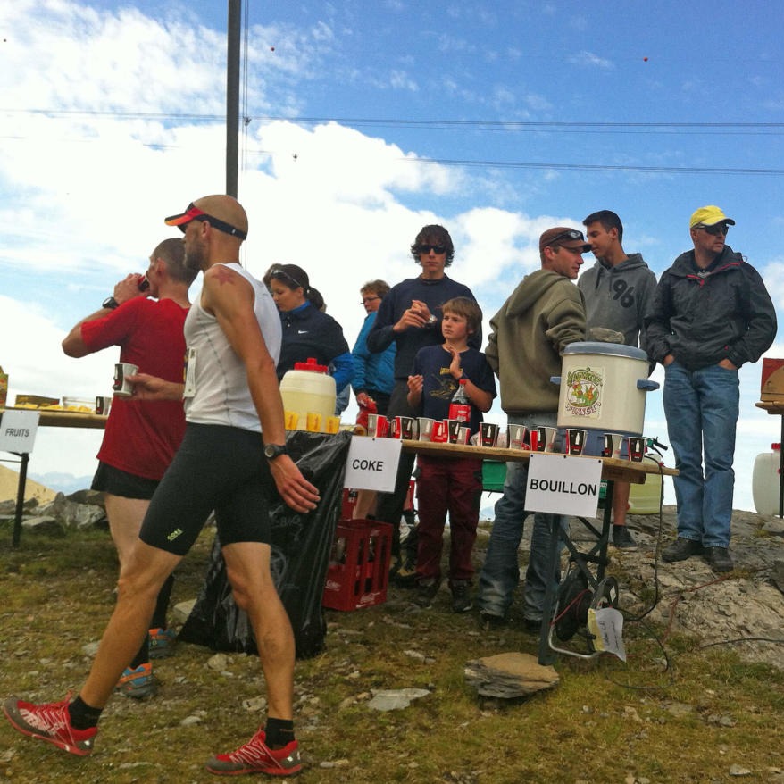
<instances>
[{"instance_id":1,"label":"blue jeans of the man in the yellow cap","mask_svg":"<svg viewBox=\"0 0 784 784\"><path fill-rule=\"evenodd\" d=\"M688 371L677 362L664 368L664 415L680 471L673 479L678 536L705 547L730 546L738 402L738 371Z\"/></svg>"}]
</instances>

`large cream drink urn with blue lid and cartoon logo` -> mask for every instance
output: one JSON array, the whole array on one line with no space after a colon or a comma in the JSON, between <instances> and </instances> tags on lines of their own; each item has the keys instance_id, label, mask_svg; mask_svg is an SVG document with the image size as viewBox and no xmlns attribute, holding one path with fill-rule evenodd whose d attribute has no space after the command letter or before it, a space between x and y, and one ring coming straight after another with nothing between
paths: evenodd
<instances>
[{"instance_id":1,"label":"large cream drink urn with blue lid and cartoon logo","mask_svg":"<svg viewBox=\"0 0 784 784\"><path fill-rule=\"evenodd\" d=\"M558 427L641 436L648 379L647 354L617 343L572 343L563 351Z\"/></svg>"}]
</instances>

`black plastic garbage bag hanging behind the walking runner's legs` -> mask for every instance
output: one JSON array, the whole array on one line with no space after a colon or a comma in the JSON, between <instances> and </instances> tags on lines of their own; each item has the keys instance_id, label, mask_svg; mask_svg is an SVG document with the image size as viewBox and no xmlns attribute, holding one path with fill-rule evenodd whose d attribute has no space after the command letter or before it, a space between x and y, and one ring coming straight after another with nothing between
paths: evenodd
<instances>
[{"instance_id":1,"label":"black plastic garbage bag hanging behind the walking runner's legs","mask_svg":"<svg viewBox=\"0 0 784 784\"><path fill-rule=\"evenodd\" d=\"M272 577L294 629L296 656L308 658L324 646L326 622L321 598L340 513L351 433L325 435L292 430L286 443L300 471L321 495L311 513L297 513L279 497L270 509ZM217 537L204 586L178 638L214 651L257 652L247 615L234 603Z\"/></svg>"}]
</instances>

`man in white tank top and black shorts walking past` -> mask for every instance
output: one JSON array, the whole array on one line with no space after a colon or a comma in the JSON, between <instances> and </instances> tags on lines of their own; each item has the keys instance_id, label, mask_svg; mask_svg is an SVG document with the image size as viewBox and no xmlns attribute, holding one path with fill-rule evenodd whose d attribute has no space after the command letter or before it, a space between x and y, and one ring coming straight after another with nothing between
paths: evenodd
<instances>
[{"instance_id":1,"label":"man in white tank top and black shorts walking past","mask_svg":"<svg viewBox=\"0 0 784 784\"><path fill-rule=\"evenodd\" d=\"M207 770L290 775L302 767L293 725L295 643L271 577L267 509L273 484L299 513L313 510L319 496L286 452L275 372L279 316L266 288L239 266L247 217L235 199L204 196L166 223L185 234L186 263L204 271L185 329L186 383L145 374L130 380L140 399L185 397L186 435L122 564L117 605L79 696L46 705L12 697L4 712L25 735L90 754L98 718L147 633L159 588L214 509L234 598L253 625L267 721L236 751L213 756Z\"/></svg>"}]
</instances>

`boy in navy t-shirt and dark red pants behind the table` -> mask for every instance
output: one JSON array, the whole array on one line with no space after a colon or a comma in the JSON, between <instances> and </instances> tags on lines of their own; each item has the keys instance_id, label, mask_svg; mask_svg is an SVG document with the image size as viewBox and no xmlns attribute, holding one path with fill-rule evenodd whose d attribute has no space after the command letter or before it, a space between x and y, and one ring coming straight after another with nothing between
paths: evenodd
<instances>
[{"instance_id":1,"label":"boy in navy t-shirt and dark red pants behind the table","mask_svg":"<svg viewBox=\"0 0 784 784\"><path fill-rule=\"evenodd\" d=\"M468 346L480 329L480 306L457 296L442 305L444 343L426 346L414 358L408 377L408 403L420 416L446 419L449 404L461 379L471 400L471 434L480 429L482 412L489 411L496 396L496 379L485 355ZM441 551L446 513L449 513L451 547L449 588L455 613L471 610L471 553L479 522L482 493L480 457L419 455L417 480L419 543L417 546L416 603L429 607L441 585Z\"/></svg>"}]
</instances>

